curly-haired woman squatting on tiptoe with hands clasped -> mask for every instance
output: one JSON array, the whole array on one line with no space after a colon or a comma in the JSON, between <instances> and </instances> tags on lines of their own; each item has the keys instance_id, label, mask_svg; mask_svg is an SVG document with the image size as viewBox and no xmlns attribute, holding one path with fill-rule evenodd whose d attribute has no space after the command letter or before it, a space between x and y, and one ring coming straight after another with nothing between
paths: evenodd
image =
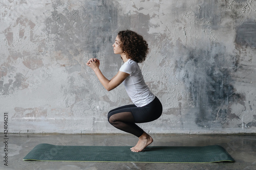
<instances>
[{"instance_id":1,"label":"curly-haired woman squatting on tiptoe with hands clasped","mask_svg":"<svg viewBox=\"0 0 256 170\"><path fill-rule=\"evenodd\" d=\"M135 123L151 122L162 114L162 104L145 84L138 65L145 60L148 53L147 42L137 33L126 30L118 33L112 46L114 53L121 56L124 64L111 80L102 75L98 59L91 58L87 65L94 70L106 90L110 91L121 83L125 86L134 105L111 110L108 114L108 120L117 129L137 136L139 141L131 148L131 151L141 152L153 142L153 139Z\"/></svg>"}]
</instances>

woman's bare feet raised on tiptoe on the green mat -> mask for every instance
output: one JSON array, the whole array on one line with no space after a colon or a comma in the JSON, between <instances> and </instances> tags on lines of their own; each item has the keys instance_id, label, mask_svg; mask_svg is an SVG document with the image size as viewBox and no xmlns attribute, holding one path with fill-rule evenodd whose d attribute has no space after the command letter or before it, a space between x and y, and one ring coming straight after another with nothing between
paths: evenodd
<instances>
[{"instance_id":1,"label":"woman's bare feet raised on tiptoe on the green mat","mask_svg":"<svg viewBox=\"0 0 256 170\"><path fill-rule=\"evenodd\" d=\"M152 142L153 142L153 138L150 135L148 135L147 133L144 132L139 137L138 143L133 148L131 148L131 151L132 152L141 152L141 151L143 151L143 149L145 149Z\"/></svg>"}]
</instances>

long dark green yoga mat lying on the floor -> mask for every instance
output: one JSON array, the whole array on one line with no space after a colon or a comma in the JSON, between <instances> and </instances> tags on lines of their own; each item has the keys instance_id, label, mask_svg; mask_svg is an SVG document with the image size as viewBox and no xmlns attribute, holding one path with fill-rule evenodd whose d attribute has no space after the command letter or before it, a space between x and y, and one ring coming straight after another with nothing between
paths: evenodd
<instances>
[{"instance_id":1,"label":"long dark green yoga mat lying on the floor","mask_svg":"<svg viewBox=\"0 0 256 170\"><path fill-rule=\"evenodd\" d=\"M38 144L23 160L88 162L173 162L206 163L231 161L233 158L219 145L206 147L147 147L134 153L131 147L70 146Z\"/></svg>"}]
</instances>

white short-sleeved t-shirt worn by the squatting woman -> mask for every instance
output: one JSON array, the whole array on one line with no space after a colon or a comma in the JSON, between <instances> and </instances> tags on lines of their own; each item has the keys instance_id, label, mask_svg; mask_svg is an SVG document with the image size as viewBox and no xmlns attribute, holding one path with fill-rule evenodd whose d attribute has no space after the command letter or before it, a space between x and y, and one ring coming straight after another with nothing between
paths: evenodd
<instances>
[{"instance_id":1,"label":"white short-sleeved t-shirt worn by the squatting woman","mask_svg":"<svg viewBox=\"0 0 256 170\"><path fill-rule=\"evenodd\" d=\"M129 59L119 71L130 74L124 81L126 92L137 107L145 106L155 99L155 95L147 87L141 69L136 61Z\"/></svg>"}]
</instances>

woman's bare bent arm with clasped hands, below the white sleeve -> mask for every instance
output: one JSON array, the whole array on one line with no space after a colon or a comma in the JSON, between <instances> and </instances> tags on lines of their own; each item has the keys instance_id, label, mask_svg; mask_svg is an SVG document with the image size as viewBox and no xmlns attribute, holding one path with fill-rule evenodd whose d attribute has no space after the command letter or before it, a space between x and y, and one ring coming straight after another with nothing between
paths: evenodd
<instances>
[{"instance_id":1,"label":"woman's bare bent arm with clasped hands, below the white sleeve","mask_svg":"<svg viewBox=\"0 0 256 170\"><path fill-rule=\"evenodd\" d=\"M87 62L87 65L90 66L94 70L100 83L108 91L113 90L114 88L119 86L126 79L126 77L129 76L129 74L127 74L126 72L118 71L117 74L111 80L108 80L103 76L102 72L99 69L99 60L98 59L90 59Z\"/></svg>"}]
</instances>

